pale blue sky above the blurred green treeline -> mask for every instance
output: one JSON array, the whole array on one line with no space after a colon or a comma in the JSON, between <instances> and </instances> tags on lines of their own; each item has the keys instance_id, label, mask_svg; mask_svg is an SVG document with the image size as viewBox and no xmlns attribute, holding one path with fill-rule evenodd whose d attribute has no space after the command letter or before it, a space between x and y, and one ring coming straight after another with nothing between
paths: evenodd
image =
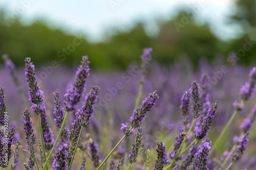
<instances>
[{"instance_id":1,"label":"pale blue sky above the blurred green treeline","mask_svg":"<svg viewBox=\"0 0 256 170\"><path fill-rule=\"evenodd\" d=\"M102 40L115 29L129 30L138 21L145 23L148 35L154 35L158 31L156 19L170 19L182 6L190 10L199 7L198 21L210 23L220 39L236 34L237 30L225 23L234 10L232 0L0 0L0 8L18 16L24 25L41 19L52 28L82 32L92 41Z\"/></svg>"}]
</instances>

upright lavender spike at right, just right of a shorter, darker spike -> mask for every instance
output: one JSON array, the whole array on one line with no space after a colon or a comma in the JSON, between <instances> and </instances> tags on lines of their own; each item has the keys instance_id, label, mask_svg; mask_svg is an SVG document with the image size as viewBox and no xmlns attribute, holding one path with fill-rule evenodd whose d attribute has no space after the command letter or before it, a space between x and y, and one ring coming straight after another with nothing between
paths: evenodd
<instances>
[{"instance_id":1,"label":"upright lavender spike at right, just right of a shorter, darker spike","mask_svg":"<svg viewBox=\"0 0 256 170\"><path fill-rule=\"evenodd\" d=\"M199 116L199 111L202 110L202 104L199 98L200 86L197 81L194 81L191 84L189 92L192 96L192 106L190 111L192 112L194 118L197 118Z\"/></svg>"}]
</instances>

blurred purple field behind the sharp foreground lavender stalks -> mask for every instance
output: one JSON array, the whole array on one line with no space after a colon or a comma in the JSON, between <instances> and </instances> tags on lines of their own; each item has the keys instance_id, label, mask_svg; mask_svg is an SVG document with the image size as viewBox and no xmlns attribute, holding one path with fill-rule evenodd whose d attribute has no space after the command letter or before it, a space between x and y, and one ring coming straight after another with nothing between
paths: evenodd
<instances>
[{"instance_id":1,"label":"blurred purple field behind the sharp foreground lavender stalks","mask_svg":"<svg viewBox=\"0 0 256 170\"><path fill-rule=\"evenodd\" d=\"M129 118L133 115L136 97L139 91L139 84L141 82L141 76L143 75L140 71L141 62L139 60L140 58L138 58L138 61L131 63L130 67L125 71L96 72L94 70L90 70L90 76L86 80L86 90L83 92L84 95L82 101L78 104L77 109L81 108L82 103L86 102L84 100L84 96L86 96L86 93L92 89L93 85L98 85L100 90L98 92L97 102L95 102L93 106L94 114L91 118L91 123L82 131L80 139L81 145L78 147L77 155L75 156L74 163L72 165L73 169L80 168L83 155L87 157L87 169L96 169L98 166L97 165L94 167L95 165L93 165L93 161L90 159L92 156L88 156L92 154L90 153L90 150L82 149L84 148L82 145L87 143L88 140L90 143L90 139L95 139L95 142L98 144L97 154L100 160L99 163L101 163L106 155L108 155L108 153L110 153L110 151L115 147L116 143L118 143L118 141L122 138L123 132L120 130L121 124L128 122ZM33 61L33 58L31 58L31 61ZM212 144L214 144L233 112L239 110L234 108L232 104L234 101L241 101L241 95L239 93L240 89L245 84L245 82L250 80L249 73L252 69L251 67L240 66L238 64L233 66L227 65L221 60L221 58L218 57L216 58L216 61L211 64L209 64L207 60L202 59L199 62L200 64L198 69L191 67L191 64L187 61L188 60L186 60L186 57L183 57L179 62L166 67L156 63L153 56L153 61L151 62L150 68L145 74L145 81L139 103L141 104L144 98L146 98L149 93L155 90L157 90L157 94L159 96L159 99L156 101L154 108L146 114L146 118L140 125L143 129L144 148L146 150L150 150L149 169L153 169L155 159L158 159L156 147L157 141L159 140L162 140L166 147L166 156L164 158L165 166L162 169L168 167L172 160L175 159L172 156L169 156L168 153L172 153L173 145L177 142L177 136L174 138L175 134L178 133L180 128L183 128L180 108L181 98L184 92L188 91L193 81L197 81L200 84L200 96L202 96L204 90L204 82L202 82L201 78L203 75L209 76L206 92L204 91L209 96L209 103L206 104L209 106L203 105L203 107L210 108L212 103L218 101L219 107L207 135L207 138L209 138ZM79 63L77 63L77 65L78 64ZM30 107L31 102L28 100L28 85L24 68L17 68L14 71L18 81L20 82L22 90L26 94L27 103ZM53 131L54 140L58 135L58 128L54 125L54 118L56 117L53 114L55 109L53 92L59 92L59 99L61 100L61 105L63 107L63 101L66 100L64 95L75 82L76 70L77 68L65 68L59 66L58 68L53 68L52 71L50 70L51 73L47 74L45 80L38 81L40 90L44 92L46 115L48 116L49 127ZM46 70L35 65L36 78L40 78L40 74L42 72L46 72ZM5 87L4 93L6 108L9 115L9 127L13 126L16 128L13 141L18 138L20 145L26 146L26 136L23 128L23 112L25 111L26 106L22 101L22 97L18 93L18 89L13 82L8 69L5 68L4 65L0 66L0 75L0 85ZM244 119L250 115L251 110L253 109L254 105L256 105L255 101L256 97L255 95L252 95L251 99L245 102L244 108L238 112L237 116L234 118L233 122L230 124L227 131L221 138L221 142L218 143L215 150L211 150L211 154L208 156L208 169L227 168L231 161L227 160L226 164L224 164L224 167L221 167L223 162L223 160L221 162L222 154L225 150L230 152L232 147L237 145L236 141L233 140L233 137L240 136L240 134L243 133L240 126L244 123ZM32 110L33 109L30 110L31 118L33 122L34 134L36 136L36 144L38 144L37 139L40 138L40 131L38 127L39 125L37 116L35 113L33 113ZM203 111L201 112L203 113ZM207 109L205 112L207 112ZM71 111L70 113L71 114L69 114L66 121L66 126L68 126L69 129L72 127L71 124L73 123L74 119L76 119L76 110ZM184 131L188 131L192 120L193 115L190 113L188 115L189 123L186 130ZM232 164L231 169L255 169L255 132L255 127L252 127L250 130L249 143L247 145L246 151L240 160ZM195 139L193 133L194 129L188 136L186 136L186 144L183 146L183 149L185 149L187 145ZM179 135L180 134L178 134L178 138ZM136 135L131 135L130 137L126 137L111 156L111 159L113 159L115 162L118 162L118 159L124 157L124 164L122 165L121 169L127 169L130 164L128 157L131 151L131 147L133 146L132 143L134 142L135 136ZM184 140L184 138L181 137L181 140ZM201 147L203 148L203 145ZM56 152L57 148L58 145L55 148ZM22 149L29 150L29 147ZM16 169L24 169L23 162L28 161L29 153L24 150L19 151L19 161L16 164ZM145 169L144 167L146 161L142 159L143 152L141 153L140 150L141 148L139 147L139 157L137 157L138 160L133 164L131 163L131 169ZM39 161L40 155L37 146L35 147L35 152L37 153ZM190 150L186 151L185 156L188 155L189 152ZM54 157L52 156L49 161L49 167L51 167L53 160ZM176 163L178 163L178 165L176 164L176 166L173 167L174 169L183 169L181 167L182 160L178 160ZM40 164L41 163L39 163L39 166ZM102 169L109 169L110 159L106 161L103 166L104 168ZM156 165L155 169L158 169L156 168ZM189 168L187 167L184 169ZM198 169L203 168L198 167Z\"/></svg>"}]
</instances>

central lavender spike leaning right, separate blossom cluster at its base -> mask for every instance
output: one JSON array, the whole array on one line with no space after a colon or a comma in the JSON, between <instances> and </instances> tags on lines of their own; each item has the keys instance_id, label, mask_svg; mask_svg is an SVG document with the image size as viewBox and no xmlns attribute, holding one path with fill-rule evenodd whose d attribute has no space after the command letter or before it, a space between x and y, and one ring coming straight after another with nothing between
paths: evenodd
<instances>
[{"instance_id":1,"label":"central lavender spike leaning right, separate blossom cluster at its base","mask_svg":"<svg viewBox=\"0 0 256 170\"><path fill-rule=\"evenodd\" d=\"M132 129L130 130L130 126L127 123L126 125L122 124L121 130L123 130L124 135L130 136L132 133L135 133L136 128L140 126L141 121L146 117L146 113L154 107L158 98L157 91L150 93L150 96L145 98L142 105L136 108L129 120Z\"/></svg>"}]
</instances>

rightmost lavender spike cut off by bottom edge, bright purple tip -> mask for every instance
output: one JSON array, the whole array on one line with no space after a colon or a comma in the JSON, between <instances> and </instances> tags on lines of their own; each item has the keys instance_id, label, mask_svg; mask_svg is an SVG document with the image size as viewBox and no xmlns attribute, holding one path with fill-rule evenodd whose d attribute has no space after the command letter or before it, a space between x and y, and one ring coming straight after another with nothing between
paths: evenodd
<instances>
[{"instance_id":1,"label":"rightmost lavender spike cut off by bottom edge, bright purple tip","mask_svg":"<svg viewBox=\"0 0 256 170\"><path fill-rule=\"evenodd\" d=\"M197 169L198 170L208 170L206 165L207 165L207 159L208 159L209 152L210 152L209 142L205 142L204 144L201 145L201 148L198 151L198 155L197 155Z\"/></svg>"}]
</instances>

